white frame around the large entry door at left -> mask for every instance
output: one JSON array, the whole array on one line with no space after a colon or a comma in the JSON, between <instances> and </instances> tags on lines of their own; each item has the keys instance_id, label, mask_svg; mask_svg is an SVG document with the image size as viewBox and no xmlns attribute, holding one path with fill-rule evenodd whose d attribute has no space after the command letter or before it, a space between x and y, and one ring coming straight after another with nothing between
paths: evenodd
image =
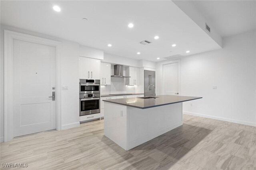
<instances>
[{"instance_id":1,"label":"white frame around the large entry door at left","mask_svg":"<svg viewBox=\"0 0 256 170\"><path fill-rule=\"evenodd\" d=\"M61 107L60 107L60 55L61 45L59 41L36 37L15 31L4 29L4 142L10 141L14 137L13 125L13 43L14 39L48 45L56 48L56 130L61 130Z\"/></svg>"}]
</instances>

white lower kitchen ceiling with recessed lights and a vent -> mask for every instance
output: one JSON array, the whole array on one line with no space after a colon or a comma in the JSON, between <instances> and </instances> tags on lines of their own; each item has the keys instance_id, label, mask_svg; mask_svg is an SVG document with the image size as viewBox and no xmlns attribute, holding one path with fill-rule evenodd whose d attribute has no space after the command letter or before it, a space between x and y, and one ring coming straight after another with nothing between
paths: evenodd
<instances>
[{"instance_id":1,"label":"white lower kitchen ceiling with recessed lights and a vent","mask_svg":"<svg viewBox=\"0 0 256 170\"><path fill-rule=\"evenodd\" d=\"M54 11L54 5L61 11ZM1 0L1 23L149 61L221 48L172 1ZM152 43L139 44L143 40Z\"/></svg>"}]
</instances>

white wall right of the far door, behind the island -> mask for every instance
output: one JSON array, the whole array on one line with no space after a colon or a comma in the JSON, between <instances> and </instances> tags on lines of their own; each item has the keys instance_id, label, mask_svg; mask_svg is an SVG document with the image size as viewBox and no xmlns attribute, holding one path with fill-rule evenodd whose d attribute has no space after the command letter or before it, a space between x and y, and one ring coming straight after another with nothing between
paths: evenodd
<instances>
[{"instance_id":1,"label":"white wall right of the far door, behind the island","mask_svg":"<svg viewBox=\"0 0 256 170\"><path fill-rule=\"evenodd\" d=\"M225 37L223 49L182 58L181 95L203 97L184 102L184 113L256 126L256 30Z\"/></svg>"}]
</instances>

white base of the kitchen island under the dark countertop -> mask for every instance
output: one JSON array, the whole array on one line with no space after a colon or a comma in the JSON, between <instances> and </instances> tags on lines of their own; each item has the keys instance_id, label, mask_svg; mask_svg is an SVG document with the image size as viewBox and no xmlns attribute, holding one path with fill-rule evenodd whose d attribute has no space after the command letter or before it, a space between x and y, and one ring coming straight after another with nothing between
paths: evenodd
<instances>
[{"instance_id":1,"label":"white base of the kitchen island under the dark countertop","mask_svg":"<svg viewBox=\"0 0 256 170\"><path fill-rule=\"evenodd\" d=\"M104 135L125 150L182 125L182 103L140 109L105 102L104 107Z\"/></svg>"}]
</instances>

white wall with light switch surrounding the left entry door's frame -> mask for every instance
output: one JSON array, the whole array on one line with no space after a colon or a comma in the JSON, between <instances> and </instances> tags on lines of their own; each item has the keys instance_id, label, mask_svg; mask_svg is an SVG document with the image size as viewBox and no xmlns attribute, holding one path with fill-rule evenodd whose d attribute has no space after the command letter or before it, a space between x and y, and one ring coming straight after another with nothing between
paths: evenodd
<instances>
[{"instance_id":1,"label":"white wall with light switch surrounding the left entry door's frame","mask_svg":"<svg viewBox=\"0 0 256 170\"><path fill-rule=\"evenodd\" d=\"M61 86L68 86L69 90L61 90L61 118L62 128L66 129L75 125L79 125L79 102L78 102L78 55L79 44L66 41L57 37L52 37L32 31L1 25L0 28L0 136L1 140L4 136L4 29L26 33L38 37L48 38L62 42L61 51ZM2 142L2 141L1 141Z\"/></svg>"}]
</instances>

